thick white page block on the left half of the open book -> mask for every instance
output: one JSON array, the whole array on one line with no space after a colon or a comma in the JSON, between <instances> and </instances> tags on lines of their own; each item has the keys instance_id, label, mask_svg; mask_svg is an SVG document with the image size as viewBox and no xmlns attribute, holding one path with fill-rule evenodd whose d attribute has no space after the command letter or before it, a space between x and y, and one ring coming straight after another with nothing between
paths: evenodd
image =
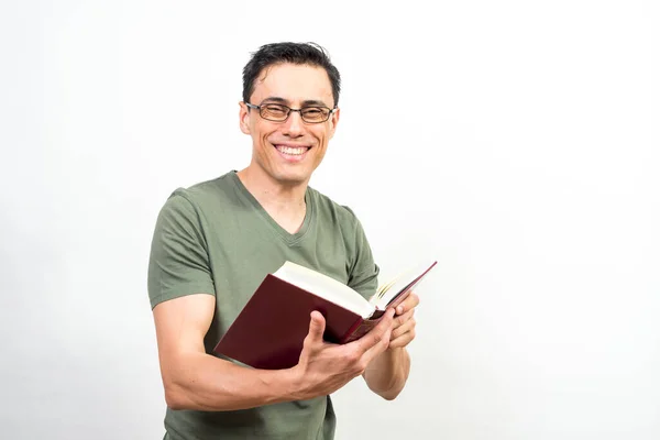
<instances>
[{"instance_id":1,"label":"thick white page block on the left half of the open book","mask_svg":"<svg viewBox=\"0 0 660 440\"><path fill-rule=\"evenodd\" d=\"M374 312L374 306L345 284L299 264L286 262L273 275L363 318Z\"/></svg>"}]
</instances>

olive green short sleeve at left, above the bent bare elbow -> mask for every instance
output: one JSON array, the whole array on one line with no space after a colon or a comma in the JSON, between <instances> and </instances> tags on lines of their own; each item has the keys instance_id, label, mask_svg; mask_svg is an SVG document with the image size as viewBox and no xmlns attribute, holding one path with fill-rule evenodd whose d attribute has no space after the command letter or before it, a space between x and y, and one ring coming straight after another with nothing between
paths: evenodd
<instances>
[{"instance_id":1,"label":"olive green short sleeve at left, above the bent bare elbow","mask_svg":"<svg viewBox=\"0 0 660 440\"><path fill-rule=\"evenodd\" d=\"M199 213L177 193L167 199L156 220L147 288L152 308L186 295L215 295Z\"/></svg>"}]
</instances>

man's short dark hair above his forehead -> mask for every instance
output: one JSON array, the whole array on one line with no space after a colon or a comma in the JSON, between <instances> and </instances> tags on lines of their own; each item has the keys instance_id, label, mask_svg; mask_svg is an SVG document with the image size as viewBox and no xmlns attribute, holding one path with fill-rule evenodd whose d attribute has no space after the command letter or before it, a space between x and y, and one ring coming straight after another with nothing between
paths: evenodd
<instances>
[{"instance_id":1,"label":"man's short dark hair above his forehead","mask_svg":"<svg viewBox=\"0 0 660 440\"><path fill-rule=\"evenodd\" d=\"M250 97L254 91L254 82L258 75L266 67L282 63L308 64L324 68L332 85L332 98L334 98L334 106L337 106L341 84L339 70L330 62L326 50L316 43L286 42L261 46L243 67L243 101L250 102Z\"/></svg>"}]
</instances>

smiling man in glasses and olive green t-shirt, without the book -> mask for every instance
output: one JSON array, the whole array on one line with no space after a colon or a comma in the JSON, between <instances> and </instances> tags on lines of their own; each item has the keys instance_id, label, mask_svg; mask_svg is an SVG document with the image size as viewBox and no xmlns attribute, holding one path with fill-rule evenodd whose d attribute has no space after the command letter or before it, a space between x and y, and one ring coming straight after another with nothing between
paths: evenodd
<instances>
[{"instance_id":1,"label":"smiling man in glasses and olive green t-shirt, without the book","mask_svg":"<svg viewBox=\"0 0 660 440\"><path fill-rule=\"evenodd\" d=\"M365 297L376 289L378 267L360 221L308 186L339 122L339 72L316 45L262 46L243 70L240 128L252 138L250 165L176 190L158 216L148 294L166 439L332 439L331 393L362 375L393 399L406 383L416 295L344 345L323 342L323 317L312 312L292 369L212 355L264 276L286 260Z\"/></svg>"}]
</instances>

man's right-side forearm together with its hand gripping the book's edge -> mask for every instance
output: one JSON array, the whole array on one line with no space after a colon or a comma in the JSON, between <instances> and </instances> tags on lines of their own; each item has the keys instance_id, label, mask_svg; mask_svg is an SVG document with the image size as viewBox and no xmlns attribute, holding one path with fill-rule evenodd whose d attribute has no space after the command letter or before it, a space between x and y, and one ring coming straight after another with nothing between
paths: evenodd
<instances>
[{"instance_id":1,"label":"man's right-side forearm together with its hand gripping the book's edge","mask_svg":"<svg viewBox=\"0 0 660 440\"><path fill-rule=\"evenodd\" d=\"M396 309L396 318L386 351L369 364L363 377L371 391L392 400L399 395L410 373L410 355L406 350L415 339L415 307L419 297L410 294Z\"/></svg>"}]
</instances>

